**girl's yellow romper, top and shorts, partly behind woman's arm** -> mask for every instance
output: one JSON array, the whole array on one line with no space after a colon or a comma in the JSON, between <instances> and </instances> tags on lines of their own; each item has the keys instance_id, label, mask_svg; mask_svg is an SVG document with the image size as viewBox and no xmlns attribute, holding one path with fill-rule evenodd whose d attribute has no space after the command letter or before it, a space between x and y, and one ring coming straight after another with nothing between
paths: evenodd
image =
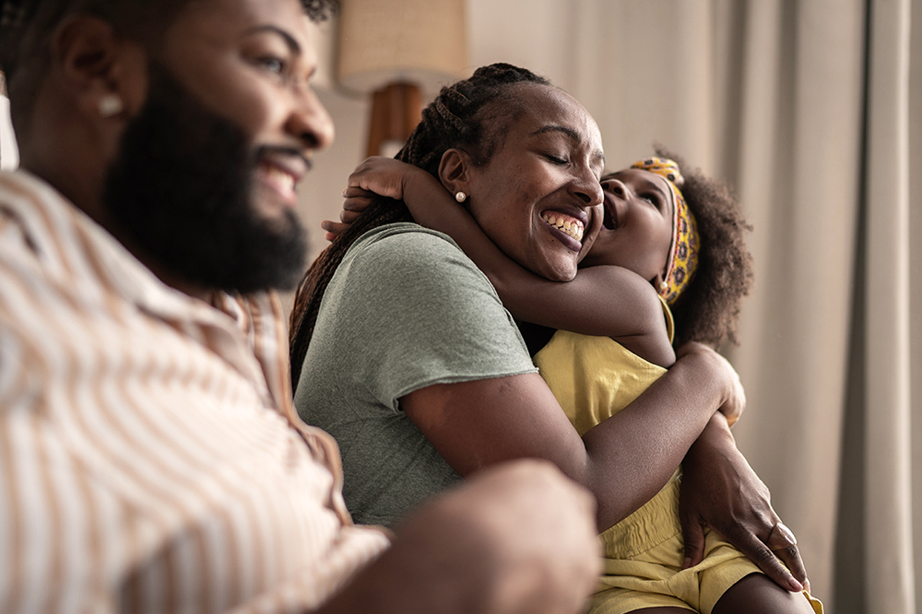
<instances>
[{"instance_id":1,"label":"girl's yellow romper, top and shorts, partly behind woman's arm","mask_svg":"<svg viewBox=\"0 0 922 614\"><path fill-rule=\"evenodd\" d=\"M671 340L672 316L665 303L663 308ZM666 373L609 337L567 330L554 334L535 355L535 364L581 435L621 411ZM592 597L593 614L667 606L710 614L730 586L751 573L762 573L709 529L704 530L703 562L682 569L680 477L681 468L643 507L601 534L605 574ZM814 611L822 614L820 602L808 598Z\"/></svg>"}]
</instances>

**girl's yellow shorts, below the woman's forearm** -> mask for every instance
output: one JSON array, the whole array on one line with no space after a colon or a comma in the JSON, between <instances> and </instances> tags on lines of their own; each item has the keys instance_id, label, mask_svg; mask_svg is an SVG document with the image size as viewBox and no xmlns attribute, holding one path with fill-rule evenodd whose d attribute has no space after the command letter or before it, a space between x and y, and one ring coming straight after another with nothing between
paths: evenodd
<instances>
[{"instance_id":1,"label":"girl's yellow shorts, below the woman's forearm","mask_svg":"<svg viewBox=\"0 0 922 614\"><path fill-rule=\"evenodd\" d=\"M682 569L679 523L680 473L653 499L602 533L605 570L593 595L592 614L626 614L640 608L686 608L710 614L727 589L751 573L762 573L714 531L704 531L704 560ZM819 600L808 596L817 614Z\"/></svg>"}]
</instances>

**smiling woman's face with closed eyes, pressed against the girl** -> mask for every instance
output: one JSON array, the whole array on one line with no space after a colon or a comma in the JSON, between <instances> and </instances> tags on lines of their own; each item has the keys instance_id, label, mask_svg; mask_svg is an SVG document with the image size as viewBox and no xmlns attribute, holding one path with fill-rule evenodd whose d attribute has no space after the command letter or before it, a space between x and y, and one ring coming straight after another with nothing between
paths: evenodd
<instances>
[{"instance_id":1,"label":"smiling woman's face with closed eyes, pressed against the girl","mask_svg":"<svg viewBox=\"0 0 922 614\"><path fill-rule=\"evenodd\" d=\"M501 143L487 164L468 170L470 213L514 261L568 281L601 226L601 134L559 89L519 84L510 97L521 108Z\"/></svg>"}]
</instances>

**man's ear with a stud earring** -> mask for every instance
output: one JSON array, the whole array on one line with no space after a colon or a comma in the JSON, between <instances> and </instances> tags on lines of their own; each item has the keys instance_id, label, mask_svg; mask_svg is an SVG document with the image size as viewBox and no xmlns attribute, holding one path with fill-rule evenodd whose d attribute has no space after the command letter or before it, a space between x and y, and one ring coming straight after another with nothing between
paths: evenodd
<instances>
[{"instance_id":1,"label":"man's ear with a stud earring","mask_svg":"<svg viewBox=\"0 0 922 614\"><path fill-rule=\"evenodd\" d=\"M53 70L77 109L103 121L124 120L147 98L147 57L98 17L70 17L52 39Z\"/></svg>"}]
</instances>

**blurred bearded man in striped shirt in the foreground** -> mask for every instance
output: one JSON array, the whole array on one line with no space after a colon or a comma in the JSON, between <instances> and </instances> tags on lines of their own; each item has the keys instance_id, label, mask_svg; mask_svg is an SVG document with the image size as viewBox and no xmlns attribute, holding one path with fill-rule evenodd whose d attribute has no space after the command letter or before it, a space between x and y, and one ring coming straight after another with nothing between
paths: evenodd
<instances>
[{"instance_id":1,"label":"blurred bearded man in striped shirt in the foreground","mask_svg":"<svg viewBox=\"0 0 922 614\"><path fill-rule=\"evenodd\" d=\"M352 524L277 289L333 125L312 0L0 1L0 611L571 612L591 498L521 461ZM390 545L393 541L393 545Z\"/></svg>"}]
</instances>

